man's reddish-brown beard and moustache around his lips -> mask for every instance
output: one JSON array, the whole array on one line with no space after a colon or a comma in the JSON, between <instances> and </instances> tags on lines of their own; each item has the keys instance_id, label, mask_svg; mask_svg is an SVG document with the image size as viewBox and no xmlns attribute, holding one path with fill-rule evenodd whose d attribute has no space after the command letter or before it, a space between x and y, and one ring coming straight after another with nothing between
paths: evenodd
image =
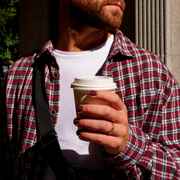
<instances>
[{"instance_id":1,"label":"man's reddish-brown beard and moustache around his lips","mask_svg":"<svg viewBox=\"0 0 180 180\"><path fill-rule=\"evenodd\" d=\"M99 5L94 0L71 0L70 13L77 21L89 25L91 27L106 30L113 33L120 27L125 9L124 0L104 0ZM110 3L122 4L122 11L113 10L111 14L103 12L103 7Z\"/></svg>"}]
</instances>

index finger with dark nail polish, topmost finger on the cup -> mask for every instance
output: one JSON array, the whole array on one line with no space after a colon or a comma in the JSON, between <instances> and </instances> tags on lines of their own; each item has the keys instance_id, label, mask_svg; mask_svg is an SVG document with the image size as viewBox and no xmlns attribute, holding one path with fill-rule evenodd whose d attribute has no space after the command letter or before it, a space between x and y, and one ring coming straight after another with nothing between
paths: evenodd
<instances>
[{"instance_id":1,"label":"index finger with dark nail polish, topmost finger on the cup","mask_svg":"<svg viewBox=\"0 0 180 180\"><path fill-rule=\"evenodd\" d=\"M122 102L121 98L116 93L104 90L92 90L90 91L90 95L94 99L107 102L111 107L118 111L126 110L125 104Z\"/></svg>"}]
</instances>

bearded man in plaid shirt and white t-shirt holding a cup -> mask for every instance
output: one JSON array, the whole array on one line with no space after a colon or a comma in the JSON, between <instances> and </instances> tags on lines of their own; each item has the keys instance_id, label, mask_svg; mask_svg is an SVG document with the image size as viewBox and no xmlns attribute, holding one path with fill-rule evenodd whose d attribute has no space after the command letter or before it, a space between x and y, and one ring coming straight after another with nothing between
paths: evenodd
<instances>
[{"instance_id":1,"label":"bearded man in plaid shirt and white t-shirt holding a cup","mask_svg":"<svg viewBox=\"0 0 180 180\"><path fill-rule=\"evenodd\" d=\"M125 2L60 0L59 7L57 43L18 60L6 76L5 178L56 179L37 141L32 102L33 65L46 57L49 111L69 164L105 171L107 179L179 179L180 90L156 55L117 30ZM109 106L82 104L76 111L87 118L76 119L70 83L95 74L113 77L116 93L91 91Z\"/></svg>"}]
</instances>

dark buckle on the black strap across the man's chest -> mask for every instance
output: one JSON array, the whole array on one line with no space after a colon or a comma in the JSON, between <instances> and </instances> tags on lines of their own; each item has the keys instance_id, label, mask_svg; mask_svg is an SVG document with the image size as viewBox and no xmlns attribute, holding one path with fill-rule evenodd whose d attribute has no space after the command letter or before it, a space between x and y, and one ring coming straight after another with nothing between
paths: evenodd
<instances>
[{"instance_id":1,"label":"dark buckle on the black strap across the man's chest","mask_svg":"<svg viewBox=\"0 0 180 180\"><path fill-rule=\"evenodd\" d=\"M39 141L41 142L43 147L46 147L47 145L54 142L57 138L58 138L58 135L57 135L56 131L53 129L53 130L47 132L46 134L44 134L43 136L41 136L39 138Z\"/></svg>"}]
</instances>

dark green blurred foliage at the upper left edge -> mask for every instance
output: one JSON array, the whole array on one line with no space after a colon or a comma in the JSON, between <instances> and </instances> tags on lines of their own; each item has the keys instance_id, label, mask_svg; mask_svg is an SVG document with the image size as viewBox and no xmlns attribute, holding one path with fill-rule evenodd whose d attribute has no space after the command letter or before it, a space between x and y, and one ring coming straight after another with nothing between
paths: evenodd
<instances>
[{"instance_id":1,"label":"dark green blurred foliage at the upper left edge","mask_svg":"<svg viewBox=\"0 0 180 180\"><path fill-rule=\"evenodd\" d=\"M19 0L0 0L0 64L18 58Z\"/></svg>"}]
</instances>

